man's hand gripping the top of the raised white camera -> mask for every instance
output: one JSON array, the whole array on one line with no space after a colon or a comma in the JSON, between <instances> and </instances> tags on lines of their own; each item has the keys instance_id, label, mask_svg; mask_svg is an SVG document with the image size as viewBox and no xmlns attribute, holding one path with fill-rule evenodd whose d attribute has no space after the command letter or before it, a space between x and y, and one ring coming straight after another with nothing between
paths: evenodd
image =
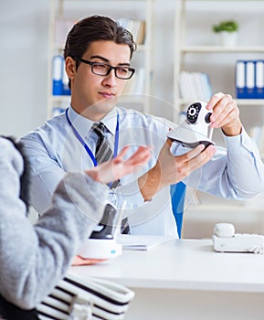
<instances>
[{"instance_id":1,"label":"man's hand gripping the top of the raised white camera","mask_svg":"<svg viewBox=\"0 0 264 320\"><path fill-rule=\"evenodd\" d=\"M207 102L207 110L213 111L210 117L212 128L222 128L226 135L234 136L241 133L242 124L239 109L230 94L218 92Z\"/></svg>"}]
</instances>

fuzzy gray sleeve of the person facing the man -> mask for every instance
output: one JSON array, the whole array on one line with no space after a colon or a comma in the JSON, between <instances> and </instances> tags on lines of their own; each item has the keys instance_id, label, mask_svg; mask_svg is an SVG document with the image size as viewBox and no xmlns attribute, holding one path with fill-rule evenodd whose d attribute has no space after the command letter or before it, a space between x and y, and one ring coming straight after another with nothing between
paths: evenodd
<instances>
[{"instance_id":1,"label":"fuzzy gray sleeve of the person facing the man","mask_svg":"<svg viewBox=\"0 0 264 320\"><path fill-rule=\"evenodd\" d=\"M1 143L0 293L22 308L32 308L67 272L81 241L100 221L108 192L83 173L68 173L33 226L18 197L22 159L12 144Z\"/></svg>"}]
</instances>

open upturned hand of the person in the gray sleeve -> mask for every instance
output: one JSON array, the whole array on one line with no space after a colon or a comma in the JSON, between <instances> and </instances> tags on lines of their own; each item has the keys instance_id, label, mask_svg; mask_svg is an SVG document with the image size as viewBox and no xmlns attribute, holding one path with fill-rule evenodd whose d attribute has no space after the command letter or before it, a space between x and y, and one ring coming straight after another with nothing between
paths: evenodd
<instances>
[{"instance_id":1,"label":"open upturned hand of the person in the gray sleeve","mask_svg":"<svg viewBox=\"0 0 264 320\"><path fill-rule=\"evenodd\" d=\"M87 175L91 176L95 181L107 184L118 180L121 176L131 175L151 157L150 148L140 146L130 158L123 160L123 156L128 149L129 146L125 146L114 159L87 170Z\"/></svg>"}]
</instances>

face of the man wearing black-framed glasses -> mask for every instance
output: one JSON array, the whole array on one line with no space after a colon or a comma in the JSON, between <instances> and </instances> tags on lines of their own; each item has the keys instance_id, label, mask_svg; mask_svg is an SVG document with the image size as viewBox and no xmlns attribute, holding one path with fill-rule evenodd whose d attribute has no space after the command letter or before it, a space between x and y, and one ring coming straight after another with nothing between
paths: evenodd
<instances>
[{"instance_id":1,"label":"face of the man wearing black-framed glasses","mask_svg":"<svg viewBox=\"0 0 264 320\"><path fill-rule=\"evenodd\" d=\"M130 48L128 45L117 45L112 41L94 41L81 59L101 62L117 66L130 66ZM115 77L114 70L110 74L100 76L92 73L91 66L67 58L66 70L71 80L71 105L76 112L93 121L100 120L110 112L121 94L126 81Z\"/></svg>"}]
</instances>

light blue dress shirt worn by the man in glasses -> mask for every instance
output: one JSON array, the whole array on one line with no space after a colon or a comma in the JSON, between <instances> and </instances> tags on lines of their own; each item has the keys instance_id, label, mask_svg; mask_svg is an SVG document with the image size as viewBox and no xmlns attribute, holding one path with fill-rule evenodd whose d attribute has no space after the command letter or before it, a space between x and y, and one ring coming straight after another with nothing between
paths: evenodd
<instances>
[{"instance_id":1,"label":"light blue dress shirt worn by the man in glasses","mask_svg":"<svg viewBox=\"0 0 264 320\"><path fill-rule=\"evenodd\" d=\"M129 216L132 234L176 236L170 188L164 187L152 201L144 202L137 183L137 177L155 165L166 140L169 123L163 118L116 107L101 120L108 129L106 134L112 149L116 138L117 112L118 150L130 145L128 157L139 145L148 145L153 148L153 156L141 170L121 178L122 186L110 190L110 200L118 208L125 203L124 214ZM93 122L71 107L69 120L94 155L97 136L90 130ZM48 207L52 193L65 172L93 166L90 155L73 133L65 113L48 120L36 131L22 137L21 141L25 144L26 155L32 166L31 202L38 212ZM244 128L237 136L225 136L225 141L227 149L217 147L213 159L185 178L185 184L211 195L232 199L246 199L263 192L264 165L256 144ZM176 143L171 151L174 155L186 152L182 145Z\"/></svg>"}]
</instances>

